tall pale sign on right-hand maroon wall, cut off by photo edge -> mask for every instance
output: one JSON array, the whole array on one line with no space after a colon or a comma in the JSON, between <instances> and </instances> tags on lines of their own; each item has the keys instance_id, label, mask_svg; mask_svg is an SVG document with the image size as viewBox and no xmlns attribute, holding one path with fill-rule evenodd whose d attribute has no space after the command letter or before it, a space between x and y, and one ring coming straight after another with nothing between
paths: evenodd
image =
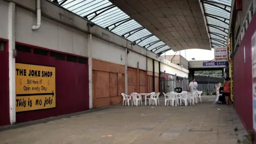
<instances>
[{"instance_id":1,"label":"tall pale sign on right-hand maroon wall, cut off by photo edge","mask_svg":"<svg viewBox=\"0 0 256 144\"><path fill-rule=\"evenodd\" d=\"M253 129L256 130L256 32L252 36L252 106Z\"/></svg>"}]
</instances>

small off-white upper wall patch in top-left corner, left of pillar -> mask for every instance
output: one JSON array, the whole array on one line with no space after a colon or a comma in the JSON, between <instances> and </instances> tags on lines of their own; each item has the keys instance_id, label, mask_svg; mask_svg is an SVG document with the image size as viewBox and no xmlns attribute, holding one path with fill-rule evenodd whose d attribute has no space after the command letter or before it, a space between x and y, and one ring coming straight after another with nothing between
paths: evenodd
<instances>
[{"instance_id":1,"label":"small off-white upper wall patch in top-left corner, left of pillar","mask_svg":"<svg viewBox=\"0 0 256 144\"><path fill-rule=\"evenodd\" d=\"M8 3L0 1L0 38L8 39Z\"/></svg>"}]
</instances>

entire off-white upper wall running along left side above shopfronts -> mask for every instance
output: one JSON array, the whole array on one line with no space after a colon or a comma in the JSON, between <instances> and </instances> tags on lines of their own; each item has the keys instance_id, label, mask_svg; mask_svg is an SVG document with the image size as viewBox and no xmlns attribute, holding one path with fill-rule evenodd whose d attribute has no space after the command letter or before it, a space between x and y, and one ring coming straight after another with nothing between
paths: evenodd
<instances>
[{"instance_id":1,"label":"entire off-white upper wall running along left side above shopfronts","mask_svg":"<svg viewBox=\"0 0 256 144\"><path fill-rule=\"evenodd\" d=\"M158 61L178 70L178 72L180 71L180 73L188 73L187 69L174 65L163 58L159 58L155 53L146 51L143 47L138 45L132 46L130 41L106 29L98 26L88 29L85 19L48 1L41 2L42 13L46 14L47 18L43 16L41 28L33 31L31 30L31 25L36 24L36 1L12 1L17 3L15 23L17 42L87 57L87 33L90 31L93 35L92 57L94 59L125 65L124 56L126 54L125 47L127 47L130 50L127 60L129 67L137 68L137 62L139 61L139 68L147 70L147 57L149 57L155 60L156 73L159 73ZM25 6L27 9L21 6ZM0 0L0 37L6 39L7 16L8 3ZM121 60L121 57L123 60ZM148 69L151 70L150 67Z\"/></svg>"}]
</instances>

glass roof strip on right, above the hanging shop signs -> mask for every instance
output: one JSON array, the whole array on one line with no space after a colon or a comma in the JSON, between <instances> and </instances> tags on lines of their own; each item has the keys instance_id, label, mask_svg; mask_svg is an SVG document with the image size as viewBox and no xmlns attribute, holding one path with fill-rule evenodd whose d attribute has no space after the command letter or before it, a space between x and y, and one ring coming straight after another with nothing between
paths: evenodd
<instances>
[{"instance_id":1,"label":"glass roof strip on right, above the hanging shop signs","mask_svg":"<svg viewBox=\"0 0 256 144\"><path fill-rule=\"evenodd\" d=\"M212 47L227 46L232 0L201 0Z\"/></svg>"}]
</instances>

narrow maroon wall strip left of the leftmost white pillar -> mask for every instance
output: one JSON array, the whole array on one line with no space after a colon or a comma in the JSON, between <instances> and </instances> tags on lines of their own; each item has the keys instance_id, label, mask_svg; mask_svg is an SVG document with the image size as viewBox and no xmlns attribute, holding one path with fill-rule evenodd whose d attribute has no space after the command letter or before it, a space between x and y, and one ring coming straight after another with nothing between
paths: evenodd
<instances>
[{"instance_id":1,"label":"narrow maroon wall strip left of the leftmost white pillar","mask_svg":"<svg viewBox=\"0 0 256 144\"><path fill-rule=\"evenodd\" d=\"M0 126L10 124L8 52L0 51Z\"/></svg>"}]
</instances>

